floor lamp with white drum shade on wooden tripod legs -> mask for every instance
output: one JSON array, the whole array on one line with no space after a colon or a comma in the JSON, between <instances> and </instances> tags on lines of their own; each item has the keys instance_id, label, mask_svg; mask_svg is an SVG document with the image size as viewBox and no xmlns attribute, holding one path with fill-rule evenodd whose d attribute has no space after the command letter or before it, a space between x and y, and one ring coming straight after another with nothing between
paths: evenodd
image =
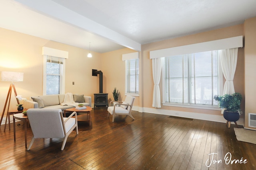
<instances>
[{"instance_id":1,"label":"floor lamp with white drum shade on wooden tripod legs","mask_svg":"<svg viewBox=\"0 0 256 170\"><path fill-rule=\"evenodd\" d=\"M11 96L12 96L12 89L14 90L15 96L17 96L17 92L16 92L13 82L23 82L23 74L24 74L23 72L8 72L8 71L2 71L2 73L1 73L1 81L11 82L11 84L10 84L9 91L8 91L6 101L4 104L4 110L3 110L3 113L1 116L0 125L1 125L2 119L4 117L4 112L5 112L5 109L7 106L7 102L8 102L7 112L9 112L10 101L11 101ZM20 102L17 98L16 98L16 100L17 100L17 103L20 104Z\"/></svg>"}]
</instances>

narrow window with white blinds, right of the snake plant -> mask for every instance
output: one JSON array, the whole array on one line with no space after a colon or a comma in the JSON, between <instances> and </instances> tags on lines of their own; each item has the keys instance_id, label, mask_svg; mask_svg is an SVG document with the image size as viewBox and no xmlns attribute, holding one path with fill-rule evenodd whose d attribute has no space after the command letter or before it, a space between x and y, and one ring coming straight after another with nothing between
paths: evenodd
<instances>
[{"instance_id":1,"label":"narrow window with white blinds, right of the snake plant","mask_svg":"<svg viewBox=\"0 0 256 170\"><path fill-rule=\"evenodd\" d=\"M126 94L139 94L139 59L126 60Z\"/></svg>"}]
</instances>

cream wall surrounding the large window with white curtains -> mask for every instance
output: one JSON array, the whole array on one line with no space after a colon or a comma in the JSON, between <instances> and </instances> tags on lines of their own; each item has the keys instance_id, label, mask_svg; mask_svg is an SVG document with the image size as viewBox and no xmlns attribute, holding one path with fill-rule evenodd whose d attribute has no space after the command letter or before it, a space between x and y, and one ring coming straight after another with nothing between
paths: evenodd
<instances>
[{"instance_id":1,"label":"cream wall surrounding the large window with white curtains","mask_svg":"<svg viewBox=\"0 0 256 170\"><path fill-rule=\"evenodd\" d=\"M151 66L152 63L149 55L150 51L165 49L170 47L177 47L182 45L189 45L194 43L201 43L201 42L212 41L217 39L224 39L224 38L235 37L239 35L244 35L243 24L142 45L142 59L143 59L142 107L153 108L152 92L153 92L154 83L153 83L153 77L152 77L152 66ZM240 92L244 98L244 82L243 81L244 81L244 49L240 48L238 50L238 64L237 64L236 73L234 77L234 87L236 92ZM160 91L162 92L162 80L160 81ZM162 95L161 95L161 101L162 101ZM170 106L162 106L162 108L160 109L221 115L220 111L208 110L208 109L192 109L192 108L185 108L185 107L170 107ZM242 110L244 110L244 102L242 104Z\"/></svg>"}]
</instances>

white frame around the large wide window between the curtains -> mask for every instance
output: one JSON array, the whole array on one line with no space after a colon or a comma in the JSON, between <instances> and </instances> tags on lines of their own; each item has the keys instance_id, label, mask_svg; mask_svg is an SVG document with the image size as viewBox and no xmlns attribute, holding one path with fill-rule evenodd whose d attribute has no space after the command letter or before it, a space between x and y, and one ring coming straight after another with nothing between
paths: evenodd
<instances>
[{"instance_id":1,"label":"white frame around the large wide window between the curtains","mask_svg":"<svg viewBox=\"0 0 256 170\"><path fill-rule=\"evenodd\" d=\"M223 94L223 72L221 68L221 63L220 63L220 56L218 55L218 88L219 88L219 94ZM168 103L164 102L165 101L165 62L162 66L162 105L163 106L173 106L173 107L188 107L188 108L197 108L197 109L211 109L211 110L220 110L220 108L215 105L215 106L210 106L210 105L197 105L197 104L181 104L181 103Z\"/></svg>"}]
</instances>

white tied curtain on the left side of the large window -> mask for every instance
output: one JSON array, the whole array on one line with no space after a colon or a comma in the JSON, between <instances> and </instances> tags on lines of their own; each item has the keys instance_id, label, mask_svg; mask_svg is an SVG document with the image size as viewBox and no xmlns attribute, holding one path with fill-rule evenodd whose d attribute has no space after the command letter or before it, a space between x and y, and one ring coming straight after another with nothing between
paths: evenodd
<instances>
[{"instance_id":1,"label":"white tied curtain on the left side of the large window","mask_svg":"<svg viewBox=\"0 0 256 170\"><path fill-rule=\"evenodd\" d=\"M164 58L152 59L152 70L153 70L153 80L154 80L154 90L153 90L153 103L152 107L160 108L161 107L161 96L159 82L162 71L162 64Z\"/></svg>"}]
</instances>

